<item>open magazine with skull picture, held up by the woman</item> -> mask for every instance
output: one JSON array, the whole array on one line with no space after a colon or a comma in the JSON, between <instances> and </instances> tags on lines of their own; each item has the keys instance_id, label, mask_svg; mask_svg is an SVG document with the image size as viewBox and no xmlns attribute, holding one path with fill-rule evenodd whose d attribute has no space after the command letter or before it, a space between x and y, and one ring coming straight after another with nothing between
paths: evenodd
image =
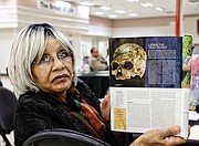
<instances>
[{"instance_id":1,"label":"open magazine with skull picture, held up by the woman","mask_svg":"<svg viewBox=\"0 0 199 146\"><path fill-rule=\"evenodd\" d=\"M181 36L109 39L112 131L180 125L188 137L189 87L181 88Z\"/></svg>"}]
</instances>

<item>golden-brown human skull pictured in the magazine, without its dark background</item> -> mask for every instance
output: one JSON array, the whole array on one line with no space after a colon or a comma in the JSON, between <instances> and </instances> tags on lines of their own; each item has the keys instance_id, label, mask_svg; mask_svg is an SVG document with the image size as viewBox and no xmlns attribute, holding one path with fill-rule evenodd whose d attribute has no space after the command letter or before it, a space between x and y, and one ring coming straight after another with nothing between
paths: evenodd
<instances>
[{"instance_id":1,"label":"golden-brown human skull pictured in the magazine, without its dark background","mask_svg":"<svg viewBox=\"0 0 199 146\"><path fill-rule=\"evenodd\" d=\"M119 45L111 62L112 75L116 80L128 80L138 75L143 77L146 69L146 52L135 43L125 43Z\"/></svg>"}]
</instances>

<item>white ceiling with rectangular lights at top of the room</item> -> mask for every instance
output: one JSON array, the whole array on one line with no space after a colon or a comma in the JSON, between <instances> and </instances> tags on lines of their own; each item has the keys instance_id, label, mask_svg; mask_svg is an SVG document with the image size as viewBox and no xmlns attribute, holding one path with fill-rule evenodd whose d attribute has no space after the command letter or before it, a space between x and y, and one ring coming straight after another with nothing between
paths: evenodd
<instances>
[{"instance_id":1,"label":"white ceiling with rectangular lights at top of the room","mask_svg":"<svg viewBox=\"0 0 199 146\"><path fill-rule=\"evenodd\" d=\"M138 2L128 2L126 0L63 0L80 4L81 2L92 2L91 15L96 15L94 12L104 12L105 14L96 15L113 20L149 18L149 17L167 17L175 15L176 0L138 0ZM182 13L185 15L199 15L199 0L181 0ZM145 8L142 3L151 3L153 7ZM111 7L111 10L102 10L101 7ZM157 11L156 8L163 8L163 11ZM125 10L126 13L116 13L116 10ZM130 17L129 13L136 13L137 17ZM109 18L108 14L116 14L117 18Z\"/></svg>"}]
</instances>

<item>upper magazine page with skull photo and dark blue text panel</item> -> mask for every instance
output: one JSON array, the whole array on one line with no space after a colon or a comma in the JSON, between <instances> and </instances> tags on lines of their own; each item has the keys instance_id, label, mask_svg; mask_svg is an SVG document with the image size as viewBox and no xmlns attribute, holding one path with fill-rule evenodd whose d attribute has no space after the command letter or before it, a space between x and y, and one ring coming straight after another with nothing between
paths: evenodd
<instances>
[{"instance_id":1,"label":"upper magazine page with skull photo and dark blue text panel","mask_svg":"<svg viewBox=\"0 0 199 146\"><path fill-rule=\"evenodd\" d=\"M109 39L111 86L181 87L180 36Z\"/></svg>"}]
</instances>

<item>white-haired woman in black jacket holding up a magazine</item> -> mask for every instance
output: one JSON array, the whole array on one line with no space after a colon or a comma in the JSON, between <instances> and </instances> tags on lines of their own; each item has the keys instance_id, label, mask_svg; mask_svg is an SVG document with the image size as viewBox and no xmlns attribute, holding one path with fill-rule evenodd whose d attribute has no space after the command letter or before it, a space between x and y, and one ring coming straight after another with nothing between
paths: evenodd
<instances>
[{"instance_id":1,"label":"white-haired woman in black jacket holding up a magazine","mask_svg":"<svg viewBox=\"0 0 199 146\"><path fill-rule=\"evenodd\" d=\"M124 135L109 131L109 94L100 103L74 72L67 39L48 23L21 30L11 50L9 75L17 95L14 143L21 146L35 133L69 128L109 144L124 145ZM132 145L177 145L180 127L147 132ZM119 136L119 138L118 138Z\"/></svg>"}]
</instances>

